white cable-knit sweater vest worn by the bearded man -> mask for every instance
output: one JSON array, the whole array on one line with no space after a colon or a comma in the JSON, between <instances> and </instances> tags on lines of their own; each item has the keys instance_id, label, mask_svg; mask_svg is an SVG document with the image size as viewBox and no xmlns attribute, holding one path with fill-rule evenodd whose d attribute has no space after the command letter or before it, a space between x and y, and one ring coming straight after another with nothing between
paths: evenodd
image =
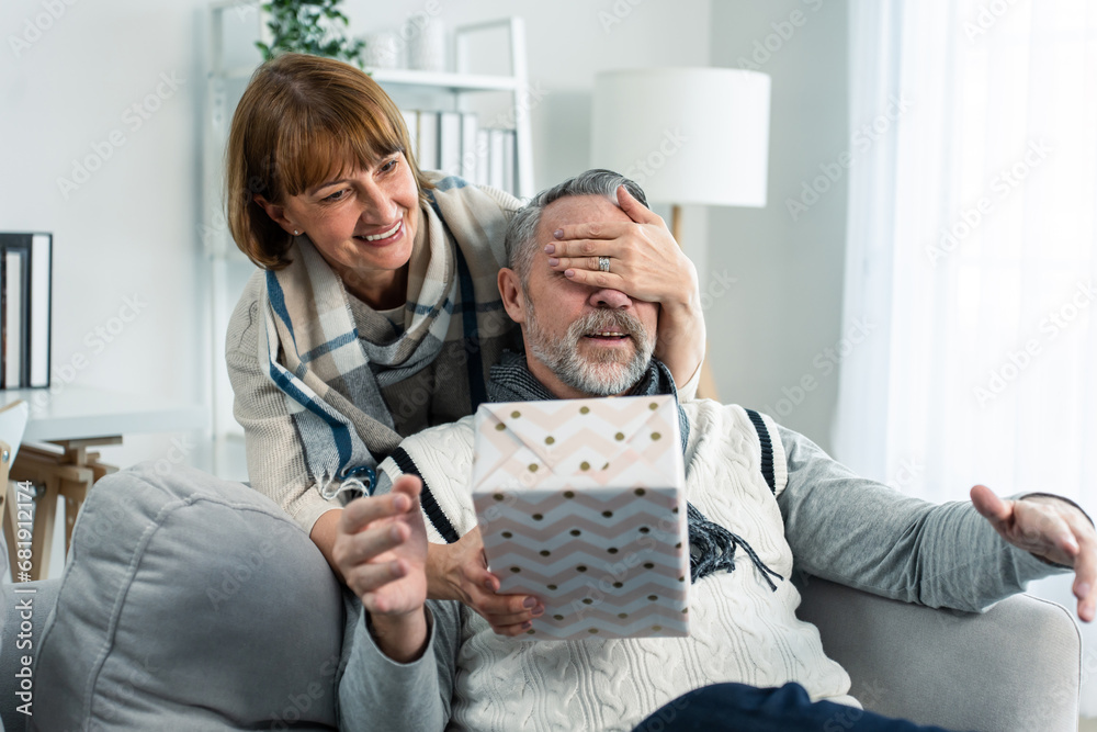
<instances>
[{"instance_id":1,"label":"white cable-knit sweater vest worn by the bearded man","mask_svg":"<svg viewBox=\"0 0 1097 732\"><path fill-rule=\"evenodd\" d=\"M847 696L848 675L823 652L818 631L795 617L800 595L790 582L792 550L777 502L788 477L777 426L765 418L773 450L771 491L760 469L758 433L742 407L710 401L682 406L691 424L686 497L784 577L777 592L740 553L734 572L690 589L690 635L675 639L514 640L496 635L462 607L452 729L627 731L682 694L721 682L769 687L794 680L813 699L857 703ZM472 418L422 432L403 447L457 532L473 529ZM392 459L382 469L393 478L400 474ZM429 522L428 531L441 540ZM436 615L440 622L446 618Z\"/></svg>"}]
</instances>

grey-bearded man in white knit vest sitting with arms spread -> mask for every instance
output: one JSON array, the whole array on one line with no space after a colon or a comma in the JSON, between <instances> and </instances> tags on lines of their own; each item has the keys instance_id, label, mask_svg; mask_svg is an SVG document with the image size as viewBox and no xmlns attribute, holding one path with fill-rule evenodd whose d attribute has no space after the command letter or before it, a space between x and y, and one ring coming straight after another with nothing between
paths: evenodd
<instances>
[{"instance_id":1,"label":"grey-bearded man in white knit vest sitting with arms spread","mask_svg":"<svg viewBox=\"0 0 1097 732\"><path fill-rule=\"evenodd\" d=\"M657 306L615 290L612 261L592 282L545 262L567 263L559 238L581 247L606 235L588 222L630 221L619 185L644 201L632 181L588 171L540 193L512 221L499 290L525 352L493 370L494 401L675 394L652 359ZM857 702L816 629L795 617L794 558L810 574L964 610L1073 566L1078 615L1094 617L1097 534L1065 499L1003 500L975 486L972 503L937 506L853 475L739 406L687 402L679 421L693 585L690 635L671 639L524 642L507 637L529 628L522 616L499 634L467 607L427 603L428 533L437 541L476 528L473 421L406 440L382 464L391 494L349 505L336 545L365 608L340 687L344 725L632 730L703 720L709 729L821 729L839 705ZM486 567L483 582L497 587ZM666 705L676 710L670 725L649 717ZM855 729L917 728L866 713Z\"/></svg>"}]
</instances>

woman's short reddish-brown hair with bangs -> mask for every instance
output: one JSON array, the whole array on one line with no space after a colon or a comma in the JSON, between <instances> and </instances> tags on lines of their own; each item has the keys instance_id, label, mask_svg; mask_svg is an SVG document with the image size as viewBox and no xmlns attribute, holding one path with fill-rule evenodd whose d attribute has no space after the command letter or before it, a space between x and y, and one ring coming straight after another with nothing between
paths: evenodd
<instances>
[{"instance_id":1,"label":"woman's short reddish-brown hair with bangs","mask_svg":"<svg viewBox=\"0 0 1097 732\"><path fill-rule=\"evenodd\" d=\"M287 196L402 151L419 198L432 185L411 151L404 116L363 71L331 58L285 54L256 69L233 115L226 150L228 227L259 267L282 269L293 237L255 201Z\"/></svg>"}]
</instances>

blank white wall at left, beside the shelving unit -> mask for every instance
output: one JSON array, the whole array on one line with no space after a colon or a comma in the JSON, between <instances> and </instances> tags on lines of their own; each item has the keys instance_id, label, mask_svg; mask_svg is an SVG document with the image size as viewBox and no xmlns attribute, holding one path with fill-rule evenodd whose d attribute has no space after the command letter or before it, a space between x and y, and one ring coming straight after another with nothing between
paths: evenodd
<instances>
[{"instance_id":1,"label":"blank white wall at left, beside the shelving unit","mask_svg":"<svg viewBox=\"0 0 1097 732\"><path fill-rule=\"evenodd\" d=\"M58 390L75 383L202 399L195 292L204 7L0 3L0 229L54 234ZM95 169L73 172L75 161ZM132 319L120 331L112 319L127 297L139 313L122 313ZM97 328L114 328L110 342ZM127 437L103 452L121 464L159 459L171 437Z\"/></svg>"}]
</instances>

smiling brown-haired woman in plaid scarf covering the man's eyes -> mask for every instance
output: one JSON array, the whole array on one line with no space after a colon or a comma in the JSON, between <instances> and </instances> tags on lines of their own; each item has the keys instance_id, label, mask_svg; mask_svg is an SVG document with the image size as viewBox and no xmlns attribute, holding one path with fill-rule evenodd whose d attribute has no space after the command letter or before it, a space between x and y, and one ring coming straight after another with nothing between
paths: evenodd
<instances>
[{"instance_id":1,"label":"smiling brown-haired woman in plaid scarf covering the man's eyes","mask_svg":"<svg viewBox=\"0 0 1097 732\"><path fill-rule=\"evenodd\" d=\"M229 227L260 268L226 338L248 473L335 566L341 503L324 491L352 476L371 488L404 437L472 414L488 369L520 350L496 274L521 203L420 170L369 76L299 54L252 76L226 168ZM658 302L659 358L690 394L704 351L695 270L659 217L623 188L620 200L632 224L557 232L550 264ZM494 594L476 539L432 550L431 596L514 622L525 598Z\"/></svg>"}]
</instances>

